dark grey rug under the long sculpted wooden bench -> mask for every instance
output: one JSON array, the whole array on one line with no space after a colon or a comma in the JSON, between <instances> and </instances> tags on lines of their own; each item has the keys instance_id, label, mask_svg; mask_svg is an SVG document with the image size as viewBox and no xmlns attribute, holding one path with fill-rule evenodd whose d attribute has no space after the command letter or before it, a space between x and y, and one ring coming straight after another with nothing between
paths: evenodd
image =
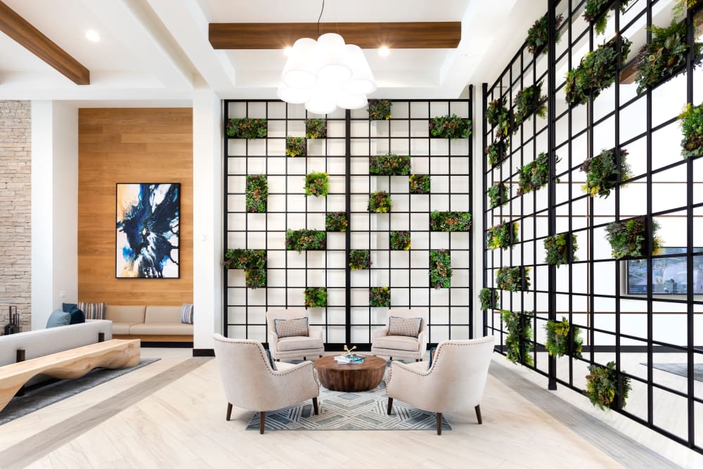
<instances>
[{"instance_id":1,"label":"dark grey rug under the long sculpted wooden bench","mask_svg":"<svg viewBox=\"0 0 703 469\"><path fill-rule=\"evenodd\" d=\"M138 370L158 360L160 359L141 359L138 365L119 370L96 368L75 380L58 380L45 386L34 387L27 390L24 396L13 397L5 409L0 411L0 425L15 420L15 418L26 416L27 413L43 409L79 392L89 390L91 387L105 383L118 376L126 375L130 371Z\"/></svg>"}]
</instances>

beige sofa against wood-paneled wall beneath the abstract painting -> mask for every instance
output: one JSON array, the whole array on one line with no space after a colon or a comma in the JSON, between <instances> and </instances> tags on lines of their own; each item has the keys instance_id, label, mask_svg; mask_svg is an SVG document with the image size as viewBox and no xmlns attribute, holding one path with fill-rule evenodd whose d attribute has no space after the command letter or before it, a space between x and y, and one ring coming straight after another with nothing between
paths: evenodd
<instances>
[{"instance_id":1,"label":"beige sofa against wood-paneled wall beneath the abstract painting","mask_svg":"<svg viewBox=\"0 0 703 469\"><path fill-rule=\"evenodd\" d=\"M181 306L108 304L105 319L112 321L112 337L115 339L193 342L193 324L181 323Z\"/></svg>"}]
</instances>

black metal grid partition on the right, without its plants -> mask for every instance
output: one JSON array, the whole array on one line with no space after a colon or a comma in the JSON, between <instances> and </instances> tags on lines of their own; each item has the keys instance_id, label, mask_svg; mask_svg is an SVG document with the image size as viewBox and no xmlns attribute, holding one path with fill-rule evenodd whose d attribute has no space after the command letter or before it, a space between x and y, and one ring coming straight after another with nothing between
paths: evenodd
<instances>
[{"instance_id":1,"label":"black metal grid partition on the right, without its plants","mask_svg":"<svg viewBox=\"0 0 703 469\"><path fill-rule=\"evenodd\" d=\"M643 25L668 25L668 20L664 23L662 20L653 21L652 18L653 7L658 3L663 4L663 0L631 3L624 14L619 12L619 8L607 13L610 15L609 26L614 27L622 36L629 39L643 37ZM671 112L664 103L668 96L666 93L685 86L685 102L699 104L703 80L700 79L700 72L696 74L693 71L692 64L700 57L694 57L693 48L690 48L685 75L654 86L641 96L636 96L633 91L636 84L620 84L616 80L601 96L595 99L591 96L588 104L569 107L564 101L565 80L557 76L557 70L574 68L581 59L576 55L583 46L588 46L588 50L592 51L603 41L603 37L595 37L591 25L586 25L579 18L585 4L585 0L546 1L550 18L548 55L533 57L527 51L527 46L523 45L496 82L490 87L487 84L483 86L484 148L494 139L493 129L485 120L489 101L499 96L508 96L508 101L512 103L517 90L544 79L547 86L543 86L543 91L546 91L548 104L548 116L543 126L537 127L536 117L527 122L531 126L531 135L545 132L545 145L536 145L536 139L531 137L524 139L522 132L515 135L510 158L506 162L491 168L484 158L484 190L487 191L489 186L497 182L505 182L508 186L517 184L515 169L531 161L541 151L550 155L551 174L548 186L538 191L543 193L539 196L540 200L547 201L544 207L536 205L536 194L529 203L529 195L520 197L511 191L510 205L489 209L487 193L484 193L486 230L503 219L527 221L532 228L530 233L525 233L524 226L521 226L520 243L515 248L510 248L510 252L489 251L484 231L484 287L494 287L495 271L499 266L524 265L526 252L529 252L531 258L528 256L528 259L531 262L527 262L527 265L531 267L530 290L512 295L501 291L501 307L536 310L532 324L536 347L532 352L534 365L530 367L548 378L550 389L555 389L559 383L581 392L585 387L584 375L588 373L588 365L605 366L608 361L614 361L617 371L621 373L620 377L629 378L633 387L628 401L637 402L626 409L623 409L622 402L618 402L614 410L703 453L703 425L695 420L695 411L699 412L703 408L703 396L695 394L694 387L694 363L699 363L703 357L703 345L695 344L695 340L700 340L699 335L695 335L695 314L700 316L703 313L703 296L694 295L691 288L694 285L694 267L703 261L703 257L694 252L694 248L700 245L700 242L695 243L696 236L700 240L702 234L698 225L703 218L700 189L703 186L703 158L681 158L678 112ZM612 4L618 6L619 1ZM698 6L697 9L700 10L701 7ZM564 15L565 21L558 29L562 39L557 46L553 40L557 31L553 18L559 13ZM689 44L694 41L693 13L689 11L685 18ZM638 32L639 36L636 35ZM610 37L609 33L606 37ZM651 39L650 32L647 32L646 39ZM633 63L642 45L632 45L628 61L620 70ZM541 74L538 70L545 71ZM594 102L597 103L595 107ZM645 108L645 117L633 114L638 106ZM662 113L662 108L666 113ZM646 123L643 125L637 119L643 119ZM604 148L636 150L636 153L631 150L628 157L633 177L627 181L627 186L615 188L610 198L590 198L580 190L586 176L579 172L579 168L586 157L598 155ZM561 158L559 163L555 161L554 155ZM695 177L695 174L698 176ZM676 176L681 178L675 179ZM673 196L673 189L677 185L685 186L685 197ZM651 241L647 248L648 255L642 259L647 263L649 272L648 293L643 296L626 294L624 261L612 259L610 246L602 238L605 226L611 221L640 215L646 217L647 226L652 226L653 220L659 221L662 226L681 226L678 239L684 242L664 238L663 244L686 247L689 288L685 296L661 297L652 293L652 260L683 256L652 256ZM685 227L677 224L681 220ZM538 233L538 225L541 233ZM557 270L555 266L548 266L544 262L542 243L546 236L567 231L579 236L579 260L560 266ZM669 236L671 231L669 229ZM515 255L517 249L520 250L520 255ZM586 284L585 287L583 283ZM525 304L529 304L529 307L523 308ZM505 332L496 314L497 311L491 311L489 317L489 312L484 311L484 333L498 336L496 350L505 353ZM586 344L583 347L583 359L565 356L556 360L550 358L543 348L546 321L561 319L562 316L582 331ZM636 328L636 321L643 316L646 318L644 333ZM678 330L678 333L681 338L685 336L685 340L662 339L659 329L661 321L674 321L682 316L685 317L685 330ZM645 366L630 359L629 353L640 354L639 361ZM662 353L669 355L662 359ZM687 365L688 375L679 378L680 385L672 384L670 373L657 371L652 366L657 361L671 361L672 353L679 354L680 361L685 361ZM619 386L622 386L622 382ZM666 401L667 404L660 404L658 408L655 399L659 402ZM671 402L680 405L673 406L670 405ZM677 412L681 415L683 425L671 423L670 414Z\"/></svg>"}]
</instances>

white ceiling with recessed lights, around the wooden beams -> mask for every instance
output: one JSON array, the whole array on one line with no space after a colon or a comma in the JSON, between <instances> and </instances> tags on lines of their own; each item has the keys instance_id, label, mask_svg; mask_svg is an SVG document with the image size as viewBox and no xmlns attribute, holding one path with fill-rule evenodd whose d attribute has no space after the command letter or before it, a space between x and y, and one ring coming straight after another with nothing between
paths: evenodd
<instances>
[{"instance_id":1,"label":"white ceiling with recessed lights, around the wooden beams","mask_svg":"<svg viewBox=\"0 0 703 469\"><path fill-rule=\"evenodd\" d=\"M275 98L285 56L214 50L209 23L314 23L322 0L3 0L91 72L79 86L0 32L0 99L84 105L183 104L207 84L221 98ZM457 49L366 49L375 98L458 98L492 81L546 0L326 0L321 22L460 21ZM85 38L96 30L101 40ZM517 33L516 33L517 32ZM145 104L146 105L146 104Z\"/></svg>"}]
</instances>

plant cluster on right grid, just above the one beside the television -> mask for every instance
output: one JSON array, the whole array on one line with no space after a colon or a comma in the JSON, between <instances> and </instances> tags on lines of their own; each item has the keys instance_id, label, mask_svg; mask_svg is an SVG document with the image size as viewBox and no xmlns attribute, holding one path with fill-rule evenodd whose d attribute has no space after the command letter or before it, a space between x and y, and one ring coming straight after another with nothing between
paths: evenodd
<instances>
[{"instance_id":1,"label":"plant cluster on right grid, just above the one beside the television","mask_svg":"<svg viewBox=\"0 0 703 469\"><path fill-rule=\"evenodd\" d=\"M581 191L588 193L591 197L607 198L615 186L617 186L618 174L620 181L626 181L632 177L630 165L627 164L628 152L625 148L620 148L620 165L617 164L615 151L602 150L600 154L593 158L588 158L581 164L581 171L586 173L586 184L581 186ZM620 183L620 187L625 184Z\"/></svg>"}]
</instances>

